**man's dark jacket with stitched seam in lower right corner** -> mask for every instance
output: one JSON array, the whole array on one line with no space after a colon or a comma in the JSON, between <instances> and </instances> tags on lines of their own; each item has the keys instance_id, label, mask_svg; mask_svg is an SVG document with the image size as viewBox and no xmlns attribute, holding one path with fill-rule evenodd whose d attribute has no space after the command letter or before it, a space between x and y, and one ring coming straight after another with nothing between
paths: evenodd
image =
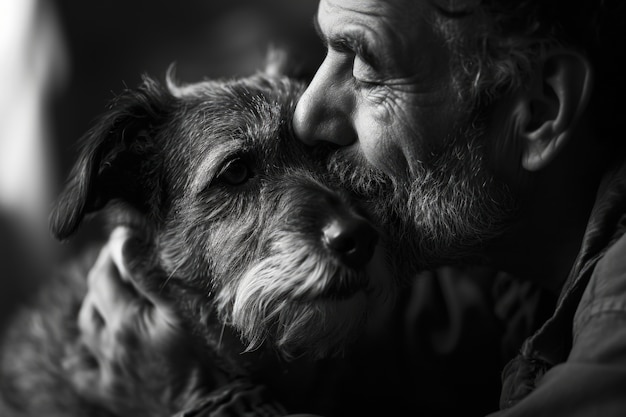
<instances>
[{"instance_id":1,"label":"man's dark jacket with stitched seam in lower right corner","mask_svg":"<svg viewBox=\"0 0 626 417\"><path fill-rule=\"evenodd\" d=\"M626 164L598 192L553 316L503 372L492 417L626 416Z\"/></svg>"}]
</instances>

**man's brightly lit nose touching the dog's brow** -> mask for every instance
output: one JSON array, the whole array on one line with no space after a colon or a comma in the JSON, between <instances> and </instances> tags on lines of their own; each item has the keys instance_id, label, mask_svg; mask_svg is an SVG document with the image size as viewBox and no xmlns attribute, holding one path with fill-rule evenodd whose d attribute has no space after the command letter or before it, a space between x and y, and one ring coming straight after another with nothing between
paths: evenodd
<instances>
[{"instance_id":1,"label":"man's brightly lit nose touching the dog's brow","mask_svg":"<svg viewBox=\"0 0 626 417\"><path fill-rule=\"evenodd\" d=\"M296 106L296 136L308 145L319 141L350 145L357 139L351 118L353 110L350 83L342 81L327 57Z\"/></svg>"}]
</instances>

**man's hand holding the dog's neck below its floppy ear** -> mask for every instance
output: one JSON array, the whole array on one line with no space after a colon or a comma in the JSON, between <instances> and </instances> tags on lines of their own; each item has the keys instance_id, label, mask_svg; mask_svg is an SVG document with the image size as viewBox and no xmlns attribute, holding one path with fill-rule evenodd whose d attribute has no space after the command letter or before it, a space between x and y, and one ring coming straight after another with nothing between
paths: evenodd
<instances>
[{"instance_id":1,"label":"man's hand holding the dog's neck below its floppy ear","mask_svg":"<svg viewBox=\"0 0 626 417\"><path fill-rule=\"evenodd\" d=\"M117 228L89 271L79 344L66 366L82 395L118 414L172 415L194 401L200 365L174 310L131 276L122 256L128 238Z\"/></svg>"}]
</instances>

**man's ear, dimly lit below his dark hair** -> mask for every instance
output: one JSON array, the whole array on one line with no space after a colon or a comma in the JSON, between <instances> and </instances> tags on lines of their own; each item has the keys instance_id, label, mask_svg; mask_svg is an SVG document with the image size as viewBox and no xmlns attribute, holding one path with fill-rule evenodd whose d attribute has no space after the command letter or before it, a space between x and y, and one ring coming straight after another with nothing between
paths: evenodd
<instances>
[{"instance_id":1,"label":"man's ear, dimly lit below his dark hair","mask_svg":"<svg viewBox=\"0 0 626 417\"><path fill-rule=\"evenodd\" d=\"M521 165L528 171L547 166L564 148L591 95L591 66L569 50L548 51L529 87L514 99Z\"/></svg>"}]
</instances>

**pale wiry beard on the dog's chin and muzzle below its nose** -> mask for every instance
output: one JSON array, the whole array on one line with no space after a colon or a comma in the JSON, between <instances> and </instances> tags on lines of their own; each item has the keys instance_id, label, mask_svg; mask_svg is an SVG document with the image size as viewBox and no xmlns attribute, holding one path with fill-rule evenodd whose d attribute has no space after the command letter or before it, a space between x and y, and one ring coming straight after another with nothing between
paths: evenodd
<instances>
[{"instance_id":1,"label":"pale wiry beard on the dog's chin and muzzle below its nose","mask_svg":"<svg viewBox=\"0 0 626 417\"><path fill-rule=\"evenodd\" d=\"M393 297L385 274L368 276L311 251L282 234L272 256L219 292L221 320L254 350L270 342L285 359L343 353L366 324L368 311Z\"/></svg>"}]
</instances>

